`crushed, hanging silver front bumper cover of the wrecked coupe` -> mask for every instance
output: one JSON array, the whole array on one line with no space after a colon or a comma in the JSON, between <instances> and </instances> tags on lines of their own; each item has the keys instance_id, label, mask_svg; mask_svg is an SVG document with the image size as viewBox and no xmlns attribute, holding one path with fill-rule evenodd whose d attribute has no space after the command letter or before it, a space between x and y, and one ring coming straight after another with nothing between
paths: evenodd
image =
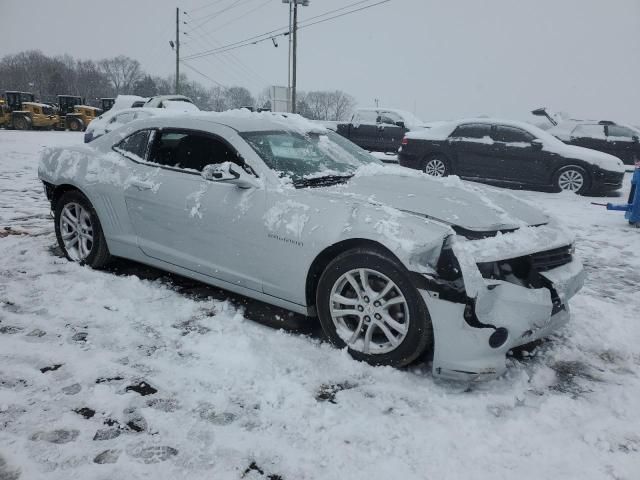
<instances>
[{"instance_id":1,"label":"crushed, hanging silver front bumper cover of the wrecked coupe","mask_svg":"<svg viewBox=\"0 0 640 480\"><path fill-rule=\"evenodd\" d=\"M584 283L582 263L574 257L540 275L549 288L483 279L484 288L466 303L420 288L433 324L434 376L467 381L499 376L509 350L566 324L568 301Z\"/></svg>"}]
</instances>

